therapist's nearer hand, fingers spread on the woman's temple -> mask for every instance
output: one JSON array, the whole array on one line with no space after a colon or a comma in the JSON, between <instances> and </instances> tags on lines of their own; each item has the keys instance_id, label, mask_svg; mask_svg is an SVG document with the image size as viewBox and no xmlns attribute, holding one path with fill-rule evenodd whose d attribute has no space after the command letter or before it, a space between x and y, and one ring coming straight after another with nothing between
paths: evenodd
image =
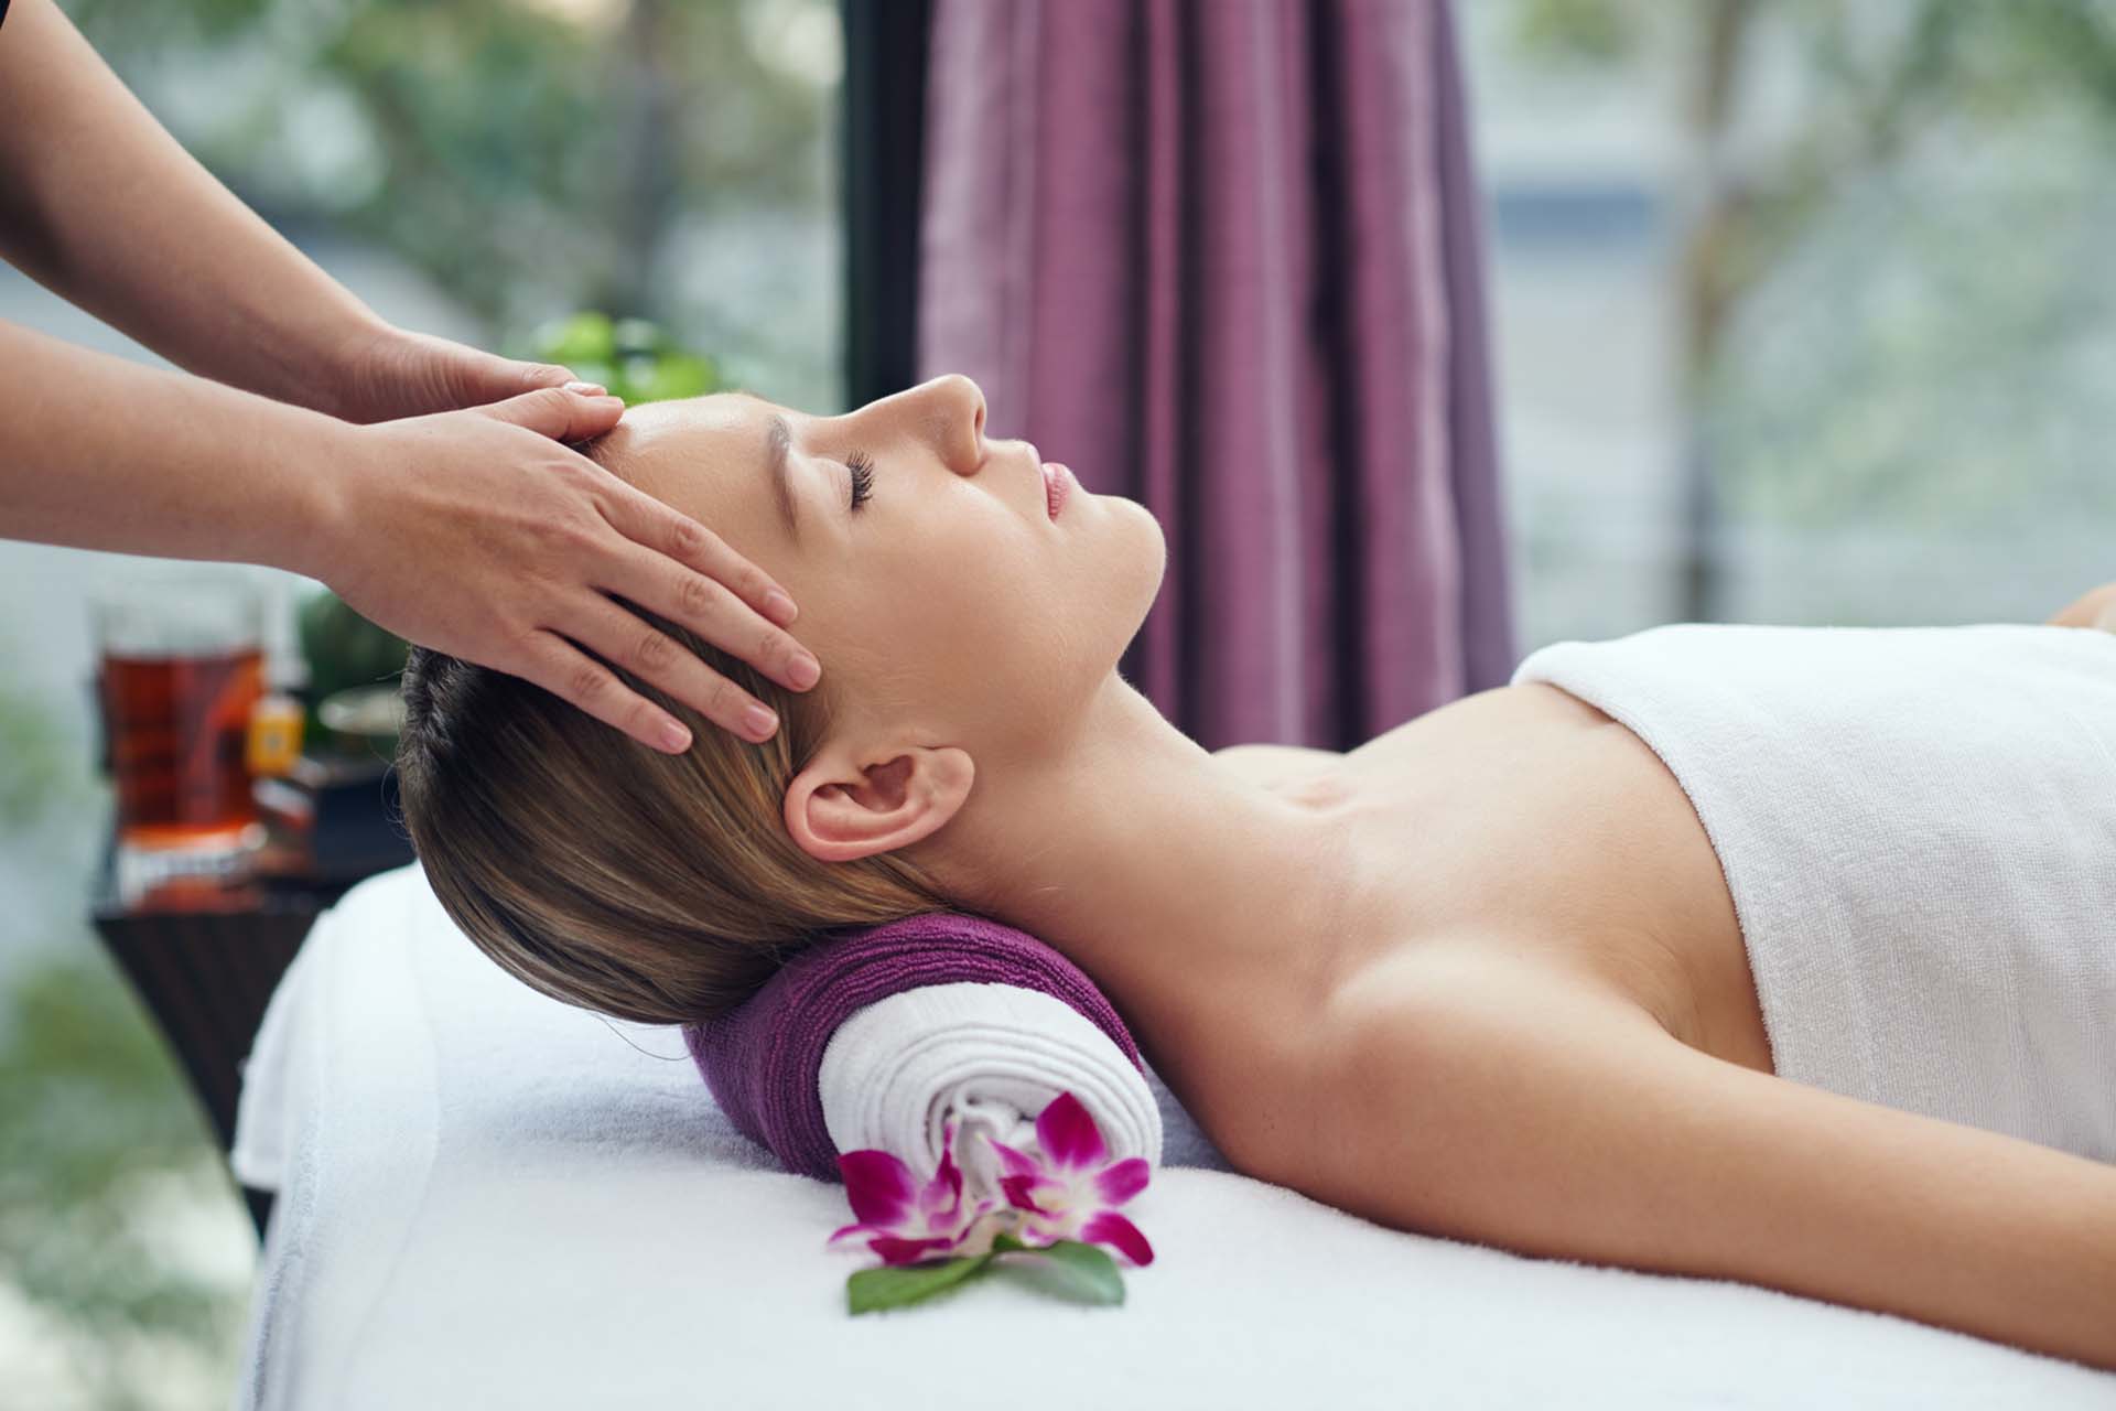
<instances>
[{"instance_id":1,"label":"therapist's nearer hand, fingers spread on the woman's temple","mask_svg":"<svg viewBox=\"0 0 2116 1411\"><path fill-rule=\"evenodd\" d=\"M322 468L330 510L309 571L398 637L535 681L654 749L683 751L690 732L580 647L766 740L777 719L762 702L605 597L692 628L789 690L821 675L781 630L794 603L762 569L563 444L622 413L618 398L550 387L347 427L351 459ZM764 719L745 719L751 709Z\"/></svg>"}]
</instances>

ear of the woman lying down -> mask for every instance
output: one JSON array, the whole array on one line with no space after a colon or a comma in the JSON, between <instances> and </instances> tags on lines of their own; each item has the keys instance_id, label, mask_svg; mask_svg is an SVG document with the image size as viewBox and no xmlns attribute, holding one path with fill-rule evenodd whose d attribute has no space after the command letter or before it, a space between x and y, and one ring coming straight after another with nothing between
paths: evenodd
<instances>
[{"instance_id":1,"label":"ear of the woman lying down","mask_svg":"<svg viewBox=\"0 0 2116 1411\"><path fill-rule=\"evenodd\" d=\"M787 785L787 831L800 850L849 863L935 833L969 798L975 766L952 745L876 751L872 764L825 745Z\"/></svg>"}]
</instances>

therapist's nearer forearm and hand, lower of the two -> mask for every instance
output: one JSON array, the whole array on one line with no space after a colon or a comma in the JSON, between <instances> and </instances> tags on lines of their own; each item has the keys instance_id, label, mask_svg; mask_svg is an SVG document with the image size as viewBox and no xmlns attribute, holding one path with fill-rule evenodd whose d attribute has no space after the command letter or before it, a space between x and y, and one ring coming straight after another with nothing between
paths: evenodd
<instances>
[{"instance_id":1,"label":"therapist's nearer forearm and hand, lower of the two","mask_svg":"<svg viewBox=\"0 0 2116 1411\"><path fill-rule=\"evenodd\" d=\"M758 616L777 588L762 569L563 444L616 425L612 396L546 387L351 425L4 322L0 368L0 537L307 573L398 637L664 751L690 734L582 647L745 738L777 721L745 723L762 709L749 692L609 594L813 685L791 675L800 645Z\"/></svg>"}]
</instances>

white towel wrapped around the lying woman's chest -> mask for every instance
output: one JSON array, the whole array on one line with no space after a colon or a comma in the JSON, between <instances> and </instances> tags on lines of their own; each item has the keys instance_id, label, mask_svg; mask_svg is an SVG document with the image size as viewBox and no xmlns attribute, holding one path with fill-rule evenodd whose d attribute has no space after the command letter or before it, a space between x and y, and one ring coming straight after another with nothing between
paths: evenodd
<instances>
[{"instance_id":1,"label":"white towel wrapped around the lying woman's chest","mask_svg":"<svg viewBox=\"0 0 2116 1411\"><path fill-rule=\"evenodd\" d=\"M1680 622L1528 681L1682 783L1780 1077L2116 1161L2116 635Z\"/></svg>"}]
</instances>

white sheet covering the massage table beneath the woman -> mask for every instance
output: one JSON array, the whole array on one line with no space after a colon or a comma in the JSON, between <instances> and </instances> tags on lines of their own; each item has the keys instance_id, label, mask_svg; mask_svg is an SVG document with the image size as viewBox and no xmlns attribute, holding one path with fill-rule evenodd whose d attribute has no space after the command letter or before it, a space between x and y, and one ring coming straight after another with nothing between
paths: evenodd
<instances>
[{"instance_id":1,"label":"white sheet covering the massage table beneath the woman","mask_svg":"<svg viewBox=\"0 0 2116 1411\"><path fill-rule=\"evenodd\" d=\"M635 1047L637 1045L637 1047ZM1011 1280L844 1312L844 1187L734 1132L675 1030L527 990L417 867L311 931L245 1070L279 1191L239 1407L2116 1407L2116 1375L1737 1282L1392 1231L1166 1166L1121 1307Z\"/></svg>"}]
</instances>

